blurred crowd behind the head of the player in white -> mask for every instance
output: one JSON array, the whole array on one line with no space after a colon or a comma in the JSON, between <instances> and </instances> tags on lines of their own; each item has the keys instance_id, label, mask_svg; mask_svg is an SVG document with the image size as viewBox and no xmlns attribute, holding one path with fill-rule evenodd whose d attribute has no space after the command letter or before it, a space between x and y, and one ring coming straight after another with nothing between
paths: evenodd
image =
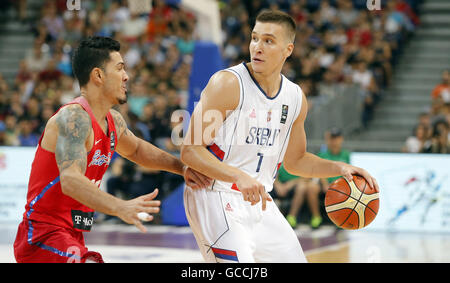
<instances>
[{"instance_id":1,"label":"blurred crowd behind the head of the player in white","mask_svg":"<svg viewBox=\"0 0 450 283\"><path fill-rule=\"evenodd\" d=\"M419 24L420 1L382 2L382 10L370 11L365 0L222 1L224 57L230 65L248 60L251 19L257 11L287 11L297 23L297 35L283 74L302 87L311 107L336 95L336 84L360 85L361 119L367 127L402 46Z\"/></svg>"}]
</instances>

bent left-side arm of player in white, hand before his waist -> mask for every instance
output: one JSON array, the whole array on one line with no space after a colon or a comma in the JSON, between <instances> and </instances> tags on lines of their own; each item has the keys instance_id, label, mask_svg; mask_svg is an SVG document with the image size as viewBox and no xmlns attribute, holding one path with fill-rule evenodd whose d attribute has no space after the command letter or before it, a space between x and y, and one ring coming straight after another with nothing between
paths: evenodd
<instances>
[{"instance_id":1,"label":"bent left-side arm of player in white, hand before his waist","mask_svg":"<svg viewBox=\"0 0 450 283\"><path fill-rule=\"evenodd\" d=\"M192 113L181 147L181 160L212 179L235 183L245 201L254 205L262 200L265 209L266 200L271 199L264 186L242 170L219 161L206 148L212 143L227 112L237 108L239 92L239 82L233 74L221 71L211 77Z\"/></svg>"}]
</instances>

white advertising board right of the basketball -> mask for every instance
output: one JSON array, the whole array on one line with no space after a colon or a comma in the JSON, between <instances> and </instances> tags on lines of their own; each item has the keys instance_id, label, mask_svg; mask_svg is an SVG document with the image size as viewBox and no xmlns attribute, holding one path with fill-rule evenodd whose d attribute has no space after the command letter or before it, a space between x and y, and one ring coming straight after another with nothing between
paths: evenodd
<instances>
[{"instance_id":1,"label":"white advertising board right of the basketball","mask_svg":"<svg viewBox=\"0 0 450 283\"><path fill-rule=\"evenodd\" d=\"M450 156L352 153L351 163L373 175L380 208L365 230L450 232Z\"/></svg>"}]
</instances>

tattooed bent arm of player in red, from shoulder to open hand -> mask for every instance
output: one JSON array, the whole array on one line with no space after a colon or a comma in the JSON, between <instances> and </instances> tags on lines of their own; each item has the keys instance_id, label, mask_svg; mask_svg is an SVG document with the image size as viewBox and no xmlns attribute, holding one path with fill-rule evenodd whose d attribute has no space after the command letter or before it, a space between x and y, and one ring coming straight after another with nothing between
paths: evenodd
<instances>
[{"instance_id":1,"label":"tattooed bent arm of player in red, from shoulder to open hand","mask_svg":"<svg viewBox=\"0 0 450 283\"><path fill-rule=\"evenodd\" d=\"M69 105L58 112L54 123L58 132L55 159L60 172L62 192L96 211L118 216L145 232L137 213L159 212L160 202L153 200L158 191L124 201L99 190L84 175L87 166L86 141L93 134L89 115L81 106Z\"/></svg>"}]
</instances>

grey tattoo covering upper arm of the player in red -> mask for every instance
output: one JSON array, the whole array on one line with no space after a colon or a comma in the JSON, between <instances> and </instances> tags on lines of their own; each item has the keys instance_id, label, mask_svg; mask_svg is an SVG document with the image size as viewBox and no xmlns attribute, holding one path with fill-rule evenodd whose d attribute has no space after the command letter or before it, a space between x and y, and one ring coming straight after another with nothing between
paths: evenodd
<instances>
[{"instance_id":1,"label":"grey tattoo covering upper arm of the player in red","mask_svg":"<svg viewBox=\"0 0 450 283\"><path fill-rule=\"evenodd\" d=\"M59 171L75 165L84 172L87 166L85 143L92 128L91 118L81 107L67 106L58 113L56 124L59 135L55 157Z\"/></svg>"}]
</instances>

